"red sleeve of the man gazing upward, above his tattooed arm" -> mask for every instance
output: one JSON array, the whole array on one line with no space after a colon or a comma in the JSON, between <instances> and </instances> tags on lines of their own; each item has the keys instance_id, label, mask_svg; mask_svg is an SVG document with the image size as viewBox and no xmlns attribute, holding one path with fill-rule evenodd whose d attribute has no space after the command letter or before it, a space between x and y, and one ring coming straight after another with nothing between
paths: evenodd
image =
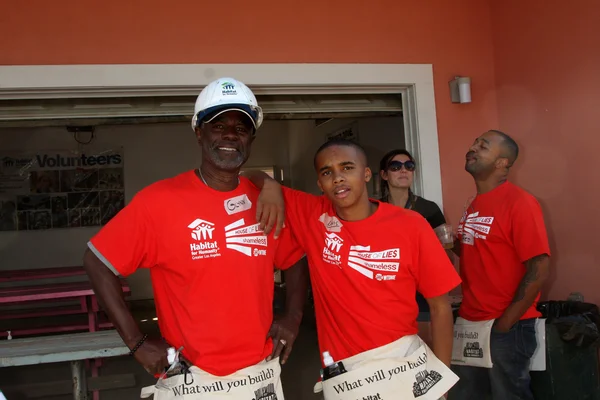
<instances>
[{"instance_id":1,"label":"red sleeve of the man gazing upward, above his tattooed arm","mask_svg":"<svg viewBox=\"0 0 600 400\"><path fill-rule=\"evenodd\" d=\"M511 214L511 237L521 262L550 255L548 234L540 203L531 195L516 202Z\"/></svg>"}]
</instances>

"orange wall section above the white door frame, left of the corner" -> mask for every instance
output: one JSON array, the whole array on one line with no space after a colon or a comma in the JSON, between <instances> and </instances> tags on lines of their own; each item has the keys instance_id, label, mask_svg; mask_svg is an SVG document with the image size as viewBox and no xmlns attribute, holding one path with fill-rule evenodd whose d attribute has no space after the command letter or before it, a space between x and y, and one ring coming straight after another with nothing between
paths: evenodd
<instances>
[{"instance_id":1,"label":"orange wall section above the white door frame, left of the corner","mask_svg":"<svg viewBox=\"0 0 600 400\"><path fill-rule=\"evenodd\" d=\"M487 1L0 3L0 65L433 64L445 211L454 222L473 190L464 153L498 122ZM473 78L472 104L450 102L448 81L459 74Z\"/></svg>"}]
</instances>

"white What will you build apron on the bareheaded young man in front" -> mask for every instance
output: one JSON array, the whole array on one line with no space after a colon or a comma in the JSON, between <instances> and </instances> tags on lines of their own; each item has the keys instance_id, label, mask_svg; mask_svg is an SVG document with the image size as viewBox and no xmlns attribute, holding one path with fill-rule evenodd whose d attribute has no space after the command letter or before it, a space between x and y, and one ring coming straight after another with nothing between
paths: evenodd
<instances>
[{"instance_id":1,"label":"white What will you build apron on the bareheaded young man in front","mask_svg":"<svg viewBox=\"0 0 600 400\"><path fill-rule=\"evenodd\" d=\"M325 400L438 400L458 382L417 335L341 361L346 373L315 386Z\"/></svg>"}]
</instances>

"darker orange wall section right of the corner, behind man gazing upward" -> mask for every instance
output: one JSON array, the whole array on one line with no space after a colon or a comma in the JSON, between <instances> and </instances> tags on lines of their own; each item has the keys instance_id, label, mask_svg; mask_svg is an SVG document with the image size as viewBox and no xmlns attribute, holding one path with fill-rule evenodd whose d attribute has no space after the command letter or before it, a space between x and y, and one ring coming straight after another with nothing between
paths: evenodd
<instances>
[{"instance_id":1,"label":"darker orange wall section right of the corner, behind man gazing upward","mask_svg":"<svg viewBox=\"0 0 600 400\"><path fill-rule=\"evenodd\" d=\"M500 129L550 232L549 297L600 304L600 2L492 2Z\"/></svg>"}]
</instances>

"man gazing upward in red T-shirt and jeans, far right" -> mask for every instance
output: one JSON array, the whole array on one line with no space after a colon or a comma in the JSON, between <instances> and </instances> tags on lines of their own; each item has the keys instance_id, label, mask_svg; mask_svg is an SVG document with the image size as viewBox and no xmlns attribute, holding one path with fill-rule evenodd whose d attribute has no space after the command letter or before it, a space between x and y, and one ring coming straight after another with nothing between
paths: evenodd
<instances>
[{"instance_id":1,"label":"man gazing upward in red T-shirt and jeans, far right","mask_svg":"<svg viewBox=\"0 0 600 400\"><path fill-rule=\"evenodd\" d=\"M477 196L458 227L463 280L459 309L467 321L493 322L492 368L455 366L460 377L450 399L529 400L529 364L536 349L535 319L548 276L550 248L542 210L525 190L508 182L519 147L508 135L489 131L475 140L465 169ZM489 329L489 328L488 328Z\"/></svg>"}]
</instances>

